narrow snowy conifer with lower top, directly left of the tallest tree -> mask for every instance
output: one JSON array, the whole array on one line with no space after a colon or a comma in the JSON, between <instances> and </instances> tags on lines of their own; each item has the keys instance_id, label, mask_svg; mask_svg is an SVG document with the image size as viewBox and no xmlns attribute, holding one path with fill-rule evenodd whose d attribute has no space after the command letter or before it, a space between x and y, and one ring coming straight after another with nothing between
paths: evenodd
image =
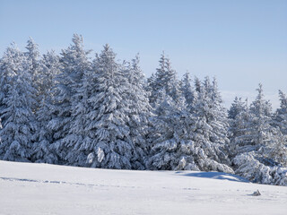
<instances>
[{"instance_id":1,"label":"narrow snowy conifer with lower top, directly left of the tallest tree","mask_svg":"<svg viewBox=\"0 0 287 215\"><path fill-rule=\"evenodd\" d=\"M43 55L39 73L41 100L39 109L36 112L39 126L32 146L32 160L35 162L55 163L57 161L57 153L51 149L53 132L48 127L48 122L53 118L51 113L53 109L51 90L56 84L55 78L60 73L60 69L59 56L54 51L49 51L46 55Z\"/></svg>"}]
</instances>

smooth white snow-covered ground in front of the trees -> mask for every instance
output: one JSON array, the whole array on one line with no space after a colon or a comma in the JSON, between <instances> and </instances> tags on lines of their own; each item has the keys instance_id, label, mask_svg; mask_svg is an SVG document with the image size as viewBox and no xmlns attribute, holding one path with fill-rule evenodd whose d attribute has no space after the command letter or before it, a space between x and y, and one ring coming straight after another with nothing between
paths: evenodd
<instances>
[{"instance_id":1,"label":"smooth white snow-covered ground in front of the trees","mask_svg":"<svg viewBox=\"0 0 287 215\"><path fill-rule=\"evenodd\" d=\"M251 193L259 190L261 196ZM190 171L0 161L0 214L287 214L287 187Z\"/></svg>"}]
</instances>

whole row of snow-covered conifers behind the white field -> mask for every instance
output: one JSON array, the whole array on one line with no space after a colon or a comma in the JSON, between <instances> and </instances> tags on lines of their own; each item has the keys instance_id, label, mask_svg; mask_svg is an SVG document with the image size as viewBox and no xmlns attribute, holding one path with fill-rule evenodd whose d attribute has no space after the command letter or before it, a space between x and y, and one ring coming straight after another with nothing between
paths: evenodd
<instances>
[{"instance_id":1,"label":"whole row of snow-covered conifers behind the white field","mask_svg":"<svg viewBox=\"0 0 287 215\"><path fill-rule=\"evenodd\" d=\"M287 98L274 113L262 85L227 110L215 79L178 80L161 55L148 79L83 38L60 56L29 39L0 60L0 159L91 168L222 171L287 185Z\"/></svg>"}]
</instances>

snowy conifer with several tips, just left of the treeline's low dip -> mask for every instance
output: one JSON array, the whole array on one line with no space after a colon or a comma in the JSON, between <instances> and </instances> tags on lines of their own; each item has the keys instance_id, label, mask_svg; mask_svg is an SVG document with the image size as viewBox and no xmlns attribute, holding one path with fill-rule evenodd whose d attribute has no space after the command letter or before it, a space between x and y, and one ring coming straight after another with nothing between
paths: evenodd
<instances>
[{"instance_id":1,"label":"snowy conifer with several tips, just left of the treeline's low dip","mask_svg":"<svg viewBox=\"0 0 287 215\"><path fill-rule=\"evenodd\" d=\"M203 171L222 171L232 173L229 167L228 122L226 110L222 107L222 98L217 82L209 78L200 84L196 79L196 118L193 129L193 155L196 167Z\"/></svg>"}]
</instances>

